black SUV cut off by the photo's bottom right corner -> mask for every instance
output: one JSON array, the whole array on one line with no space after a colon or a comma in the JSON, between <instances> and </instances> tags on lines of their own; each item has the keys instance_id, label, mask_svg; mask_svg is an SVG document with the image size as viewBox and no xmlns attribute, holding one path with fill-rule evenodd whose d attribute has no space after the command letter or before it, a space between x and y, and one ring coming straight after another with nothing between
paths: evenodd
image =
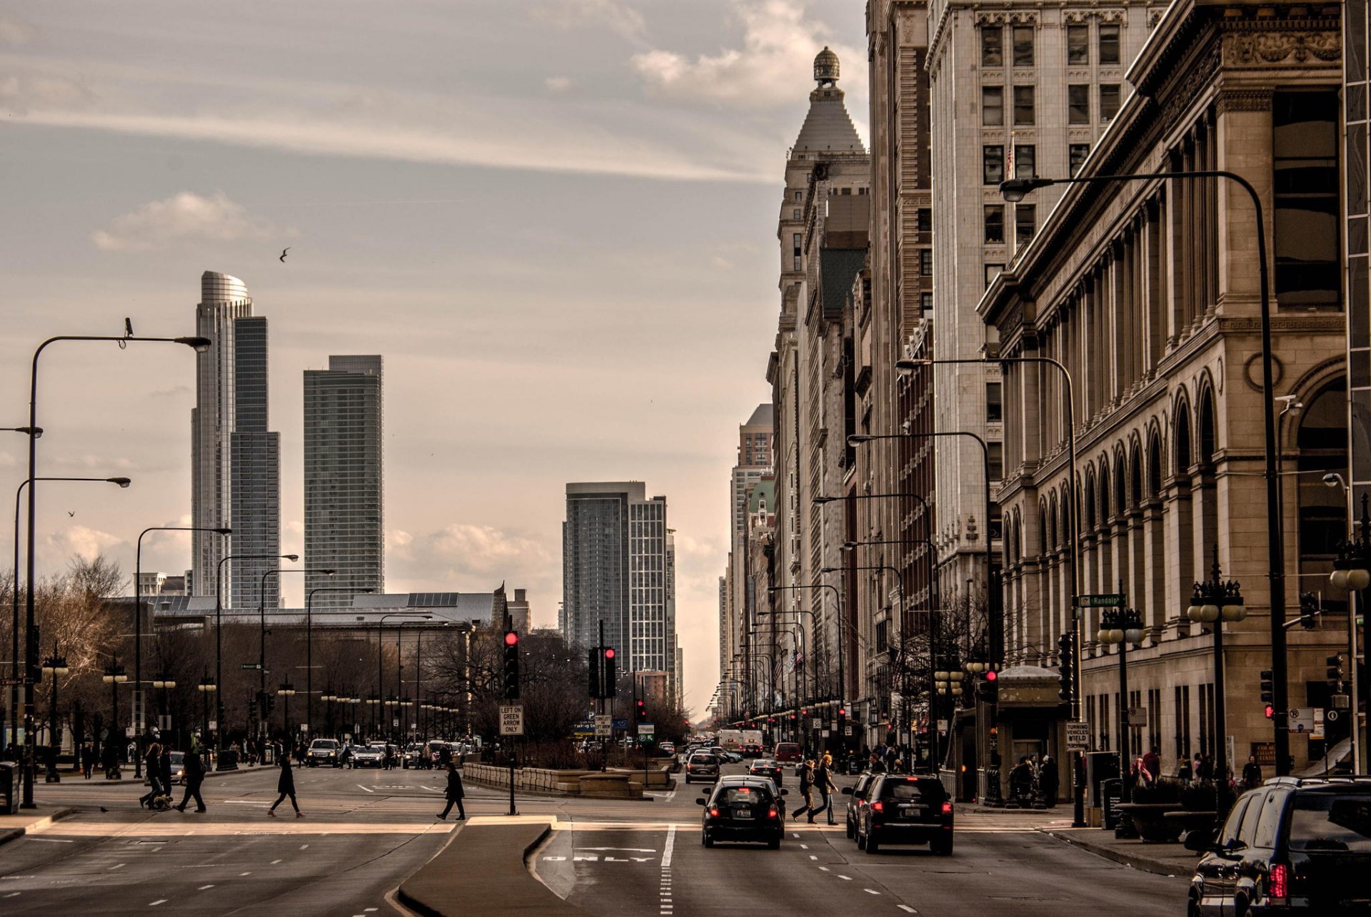
<instances>
[{"instance_id":1,"label":"black SUV cut off by the photo's bottom right corner","mask_svg":"<svg viewBox=\"0 0 1371 917\"><path fill-rule=\"evenodd\" d=\"M1371 910L1371 779L1274 777L1238 796L1217 832L1191 831L1205 851L1187 914Z\"/></svg>"}]
</instances>

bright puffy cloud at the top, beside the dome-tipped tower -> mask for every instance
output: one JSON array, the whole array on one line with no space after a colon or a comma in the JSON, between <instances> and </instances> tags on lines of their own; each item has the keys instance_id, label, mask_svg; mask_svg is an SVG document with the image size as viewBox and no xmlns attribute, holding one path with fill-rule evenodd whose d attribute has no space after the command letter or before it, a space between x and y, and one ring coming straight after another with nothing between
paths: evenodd
<instances>
[{"instance_id":1,"label":"bright puffy cloud at the top, beside the dome-tipped tower","mask_svg":"<svg viewBox=\"0 0 1371 917\"><path fill-rule=\"evenodd\" d=\"M654 48L631 59L648 90L676 99L707 99L744 108L794 103L810 82L814 55L829 29L806 16L802 0L733 0L733 18L743 27L743 47L694 59ZM864 55L834 48L849 67ZM860 84L861 81L853 81Z\"/></svg>"}]
</instances>

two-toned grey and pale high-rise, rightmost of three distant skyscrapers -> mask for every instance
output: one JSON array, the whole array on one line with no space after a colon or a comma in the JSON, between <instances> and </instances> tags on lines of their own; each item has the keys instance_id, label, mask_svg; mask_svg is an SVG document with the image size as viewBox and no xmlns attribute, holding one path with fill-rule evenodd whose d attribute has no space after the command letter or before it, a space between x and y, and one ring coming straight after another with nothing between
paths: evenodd
<instances>
[{"instance_id":1,"label":"two-toned grey and pale high-rise, rightmost of three distant skyscrapers","mask_svg":"<svg viewBox=\"0 0 1371 917\"><path fill-rule=\"evenodd\" d=\"M628 670L676 665L675 563L666 498L647 499L642 481L566 485L562 524L562 610L568 643L628 651Z\"/></svg>"}]
</instances>

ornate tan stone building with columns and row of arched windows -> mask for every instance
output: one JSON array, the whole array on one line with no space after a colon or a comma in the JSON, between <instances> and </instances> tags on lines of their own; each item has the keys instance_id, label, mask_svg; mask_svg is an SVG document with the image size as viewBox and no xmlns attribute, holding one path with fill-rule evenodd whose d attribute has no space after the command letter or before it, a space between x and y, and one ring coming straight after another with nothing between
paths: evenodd
<instances>
[{"instance_id":1,"label":"ornate tan stone building with columns and row of arched windows","mask_svg":"<svg viewBox=\"0 0 1371 917\"><path fill-rule=\"evenodd\" d=\"M1345 302L1339 273L1339 5L1211 5L1182 0L1128 69L1134 93L1082 175L1231 170L1257 189L1271 263L1286 609L1322 591L1313 629L1289 629L1290 703L1328 706L1324 655L1345 647L1345 595L1330 592L1346 467ZM1131 27L1131 26L1130 26ZM1075 173L1076 169L1071 169ZM1038 174L1067 175L1064 162ZM1142 615L1130 692L1117 655L1084 611L1083 716L1097 748L1117 748L1121 710L1134 753L1213 754L1213 636L1186 617L1215 558L1241 583L1248 617L1224 625L1227 739L1237 761L1270 763L1257 670L1271 666L1263 481L1260 296L1254 211L1220 180L1063 185L1027 247L980 302L1005 358L1006 657L1057 665L1072 596L1123 592ZM1026 203L1039 197L1035 192ZM1068 425L1076 432L1069 477ZM1079 585L1072 583L1079 507ZM1294 622L1296 613L1289 613ZM1337 735L1330 729L1330 739ZM1047 726L1013 736L1015 754ZM1323 743L1291 736L1296 769ZM1270 774L1270 768L1267 769Z\"/></svg>"}]
</instances>

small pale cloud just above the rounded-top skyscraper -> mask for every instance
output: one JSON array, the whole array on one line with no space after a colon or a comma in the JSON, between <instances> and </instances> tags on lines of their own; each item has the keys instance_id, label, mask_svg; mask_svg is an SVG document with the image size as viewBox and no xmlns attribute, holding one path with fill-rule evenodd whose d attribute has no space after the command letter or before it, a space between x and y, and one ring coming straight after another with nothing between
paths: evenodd
<instances>
[{"instance_id":1,"label":"small pale cloud just above the rounded-top skyscraper","mask_svg":"<svg viewBox=\"0 0 1371 917\"><path fill-rule=\"evenodd\" d=\"M185 240L232 243L282 234L293 236L293 232L282 232L248 215L222 191L208 197L182 191L115 217L107 229L90 233L90 240L104 251L147 251Z\"/></svg>"}]
</instances>

